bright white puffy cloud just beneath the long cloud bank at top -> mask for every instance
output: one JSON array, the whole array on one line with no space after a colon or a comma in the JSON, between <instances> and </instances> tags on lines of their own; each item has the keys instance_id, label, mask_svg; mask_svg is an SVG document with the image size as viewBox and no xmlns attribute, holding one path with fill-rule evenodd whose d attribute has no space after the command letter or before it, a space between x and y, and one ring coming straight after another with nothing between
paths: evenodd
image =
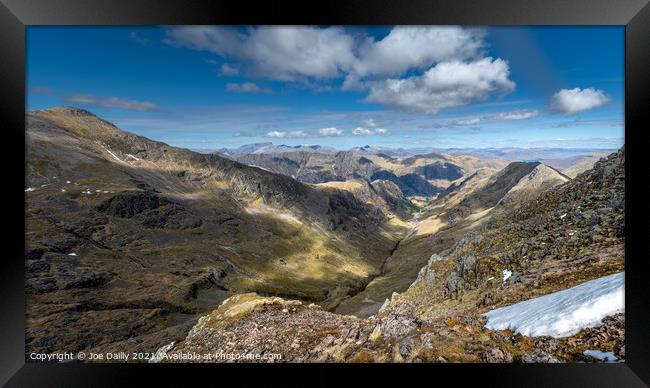
<instances>
[{"instance_id":1,"label":"bright white puffy cloud just beneath the long cloud bank at top","mask_svg":"<svg viewBox=\"0 0 650 388\"><path fill-rule=\"evenodd\" d=\"M387 79L370 86L368 102L406 110L437 113L440 109L466 105L491 94L511 92L515 83L502 59L475 62L443 62L421 76Z\"/></svg>"}]
</instances>

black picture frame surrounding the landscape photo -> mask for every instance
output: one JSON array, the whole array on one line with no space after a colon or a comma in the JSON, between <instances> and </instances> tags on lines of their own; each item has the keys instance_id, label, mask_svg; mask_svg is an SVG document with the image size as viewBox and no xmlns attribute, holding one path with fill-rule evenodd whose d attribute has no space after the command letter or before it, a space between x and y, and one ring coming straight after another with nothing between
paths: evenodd
<instances>
[{"instance_id":1,"label":"black picture frame surrounding the landscape photo","mask_svg":"<svg viewBox=\"0 0 650 388\"><path fill-rule=\"evenodd\" d=\"M25 363L24 160L25 27L29 25L624 25L626 150L626 362L624 364L518 365L146 365ZM402 384L475 381L481 386L616 386L650 383L650 288L645 282L646 211L640 188L644 175L644 123L650 109L650 6L648 0L348 0L328 2L174 0L0 0L0 116L5 167L6 237L0 270L0 384L7 386L115 386L134 377L159 384L202 376L226 384L236 377L270 385ZM21 227L22 226L22 227ZM297 377L296 372L301 376ZM346 373L344 377L340 372ZM308 380L305 380L308 379ZM228 383L229 385L237 385Z\"/></svg>"}]
</instances>

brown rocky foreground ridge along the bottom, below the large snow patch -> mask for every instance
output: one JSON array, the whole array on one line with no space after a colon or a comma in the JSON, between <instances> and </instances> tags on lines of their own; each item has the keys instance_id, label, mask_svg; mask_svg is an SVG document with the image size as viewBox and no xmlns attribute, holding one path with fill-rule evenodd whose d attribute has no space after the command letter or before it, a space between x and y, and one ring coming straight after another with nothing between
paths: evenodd
<instances>
[{"instance_id":1,"label":"brown rocky foreground ridge along the bottom, below the large snow patch","mask_svg":"<svg viewBox=\"0 0 650 388\"><path fill-rule=\"evenodd\" d=\"M485 322L476 314L359 319L299 301L241 294L201 318L185 340L164 347L152 362L227 361L188 359L215 352L240 355L239 362L595 362L584 354L591 349L625 358L623 314L566 338L489 330ZM265 354L281 359L260 359Z\"/></svg>"}]
</instances>

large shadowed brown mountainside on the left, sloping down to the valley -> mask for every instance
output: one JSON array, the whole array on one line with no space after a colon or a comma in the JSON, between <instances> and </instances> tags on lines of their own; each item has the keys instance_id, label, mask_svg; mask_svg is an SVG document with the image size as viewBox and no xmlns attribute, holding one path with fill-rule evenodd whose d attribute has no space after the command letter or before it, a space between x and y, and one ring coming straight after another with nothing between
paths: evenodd
<instances>
[{"instance_id":1,"label":"large shadowed brown mountainside on the left, sloping down to the valley","mask_svg":"<svg viewBox=\"0 0 650 388\"><path fill-rule=\"evenodd\" d=\"M335 305L405 231L346 190L84 110L31 112L26 136L28 352L151 349L238 292Z\"/></svg>"}]
</instances>

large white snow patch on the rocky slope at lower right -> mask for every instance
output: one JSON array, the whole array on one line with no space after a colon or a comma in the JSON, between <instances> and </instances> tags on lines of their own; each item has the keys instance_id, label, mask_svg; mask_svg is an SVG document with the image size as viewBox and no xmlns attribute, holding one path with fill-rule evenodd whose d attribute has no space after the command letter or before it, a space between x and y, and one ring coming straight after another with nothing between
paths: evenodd
<instances>
[{"instance_id":1,"label":"large white snow patch on the rocky slope at lower right","mask_svg":"<svg viewBox=\"0 0 650 388\"><path fill-rule=\"evenodd\" d=\"M525 336L567 337L625 311L625 272L605 276L485 314L485 327Z\"/></svg>"}]
</instances>

